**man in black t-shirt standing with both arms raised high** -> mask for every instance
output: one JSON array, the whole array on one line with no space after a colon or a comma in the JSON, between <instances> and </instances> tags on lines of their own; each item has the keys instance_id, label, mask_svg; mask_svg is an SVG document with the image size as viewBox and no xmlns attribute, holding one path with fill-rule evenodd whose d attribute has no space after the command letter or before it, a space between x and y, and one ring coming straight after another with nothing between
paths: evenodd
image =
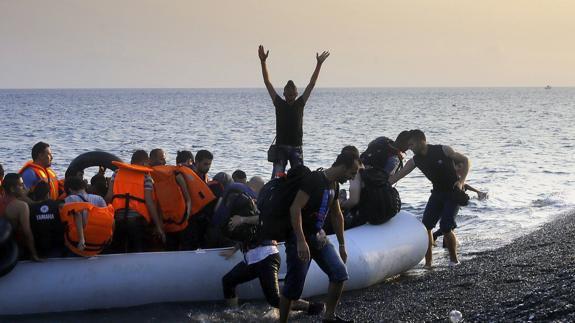
<instances>
[{"instance_id":1,"label":"man in black t-shirt standing with both arms raised high","mask_svg":"<svg viewBox=\"0 0 575 323\"><path fill-rule=\"evenodd\" d=\"M269 55L269 50L266 52L264 47L260 45L258 54L262 64L262 74L264 77L264 84L272 98L273 104L276 109L276 145L275 145L275 158L273 161L274 169L272 178L282 176L285 173L287 162L289 160L290 167L303 165L303 150L302 150L302 137L303 137L303 108L311 95L311 91L315 86L315 82L319 76L319 70L325 59L329 56L329 52L323 52L321 55L316 53L317 64L311 76L309 84L305 88L303 95L297 97L297 87L292 80L289 80L284 87L285 100L280 98L276 93L268 75L268 68L266 66L266 59Z\"/></svg>"}]
</instances>

